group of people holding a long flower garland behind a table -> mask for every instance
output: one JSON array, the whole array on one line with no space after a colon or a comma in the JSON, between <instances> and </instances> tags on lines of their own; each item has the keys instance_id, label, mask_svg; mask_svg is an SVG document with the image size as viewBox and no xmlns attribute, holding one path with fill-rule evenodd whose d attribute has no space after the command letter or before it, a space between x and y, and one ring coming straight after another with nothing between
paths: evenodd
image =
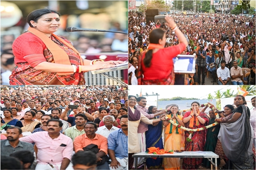
<instances>
[{"instance_id":1,"label":"group of people holding a long flower garland behind a table","mask_svg":"<svg viewBox=\"0 0 256 170\"><path fill-rule=\"evenodd\" d=\"M147 108L147 99L143 96L129 95L128 101L129 169L135 166L132 155L149 150L157 153L156 148L167 152L211 151L219 156L215 166L224 159L226 164L222 169L255 169L255 97L251 99L251 110L246 106L244 96L237 95L234 105L226 105L224 111L211 103L192 102L191 109L184 112L176 104L166 105L164 110L158 110L156 106ZM210 111L206 114L208 107ZM211 126L206 128L208 125ZM139 159L138 166L143 166L142 163L143 159ZM202 165L210 167L210 162L202 158L183 158L183 169L196 170ZM166 170L181 168L180 158L166 157L148 158L146 166Z\"/></svg>"}]
</instances>

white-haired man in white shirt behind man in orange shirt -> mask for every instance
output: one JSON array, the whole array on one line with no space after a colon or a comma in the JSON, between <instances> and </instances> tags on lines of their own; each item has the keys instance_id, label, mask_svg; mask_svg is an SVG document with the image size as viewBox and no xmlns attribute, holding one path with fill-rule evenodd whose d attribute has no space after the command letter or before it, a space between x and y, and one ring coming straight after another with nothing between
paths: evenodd
<instances>
[{"instance_id":1,"label":"white-haired man in white shirt behind man in orange shirt","mask_svg":"<svg viewBox=\"0 0 256 170\"><path fill-rule=\"evenodd\" d=\"M104 116L103 122L105 126L98 127L98 130L96 131L96 133L108 138L108 135L111 132L119 130L118 127L113 126L114 121L115 121L114 116L110 116L110 115Z\"/></svg>"}]
</instances>

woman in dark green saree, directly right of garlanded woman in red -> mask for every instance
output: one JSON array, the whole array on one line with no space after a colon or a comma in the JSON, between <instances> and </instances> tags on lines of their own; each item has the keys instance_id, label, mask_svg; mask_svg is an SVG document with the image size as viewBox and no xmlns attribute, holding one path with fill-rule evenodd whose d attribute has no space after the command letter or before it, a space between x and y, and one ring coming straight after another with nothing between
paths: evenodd
<instances>
[{"instance_id":1,"label":"woman in dark green saree, directly right of garlanded woman in red","mask_svg":"<svg viewBox=\"0 0 256 170\"><path fill-rule=\"evenodd\" d=\"M212 125L215 122L216 116L213 110L209 111L209 116L210 116L210 120L209 120L209 124L208 125ZM215 151L215 147L217 144L217 140L218 140L218 133L220 131L220 124L212 126L210 128L207 129L207 134L206 134L206 142L204 145L204 151L211 151L214 152ZM217 159L217 165L219 165L221 163L221 160L218 158ZM211 163L210 161L208 161L208 159L204 158L203 160L203 164L205 167L210 167Z\"/></svg>"}]
</instances>

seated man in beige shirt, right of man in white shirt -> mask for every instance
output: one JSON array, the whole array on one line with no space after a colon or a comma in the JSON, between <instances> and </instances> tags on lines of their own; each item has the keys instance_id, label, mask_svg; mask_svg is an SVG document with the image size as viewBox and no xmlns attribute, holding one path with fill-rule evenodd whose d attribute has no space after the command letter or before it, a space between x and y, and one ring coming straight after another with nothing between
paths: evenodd
<instances>
[{"instance_id":1,"label":"seated man in beige shirt, right of man in white shirt","mask_svg":"<svg viewBox=\"0 0 256 170\"><path fill-rule=\"evenodd\" d=\"M243 81L241 80L243 78L243 71L242 68L238 66L238 63L236 60L233 61L233 67L230 69L231 74L231 84L232 85L244 85Z\"/></svg>"}]
</instances>

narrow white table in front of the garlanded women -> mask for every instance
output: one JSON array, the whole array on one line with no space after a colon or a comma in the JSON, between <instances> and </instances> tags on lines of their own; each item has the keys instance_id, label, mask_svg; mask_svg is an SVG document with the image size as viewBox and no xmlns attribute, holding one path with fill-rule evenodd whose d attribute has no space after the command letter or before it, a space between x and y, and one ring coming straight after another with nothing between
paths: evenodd
<instances>
[{"instance_id":1,"label":"narrow white table in front of the garlanded women","mask_svg":"<svg viewBox=\"0 0 256 170\"><path fill-rule=\"evenodd\" d=\"M212 164L215 165L215 170L217 170L217 158L219 157L213 152L209 151L184 151L181 153L174 152L173 154L163 154L163 155L154 155L153 153L137 153L134 154L132 157L135 158L135 170L137 170L137 163L138 158L207 158L211 162L211 170L212 170ZM215 164L212 161L212 158L215 158Z\"/></svg>"}]
</instances>

